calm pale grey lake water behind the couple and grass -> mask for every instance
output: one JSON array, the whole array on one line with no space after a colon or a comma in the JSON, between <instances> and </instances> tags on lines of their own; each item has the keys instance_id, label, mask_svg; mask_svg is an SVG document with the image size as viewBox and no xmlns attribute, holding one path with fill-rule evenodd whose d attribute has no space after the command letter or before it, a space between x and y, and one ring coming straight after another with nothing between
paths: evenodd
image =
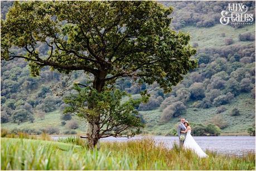
<instances>
[{"instance_id":1,"label":"calm pale grey lake water behind the couple and grass","mask_svg":"<svg viewBox=\"0 0 256 171\"><path fill-rule=\"evenodd\" d=\"M131 141L136 139L142 139L144 137L153 138L156 143L164 143L168 148L172 148L173 143L178 144L177 136L134 136L133 138L114 138L108 137L100 139L104 141ZM235 154L242 155L244 152L255 153L255 136L193 136L197 144L199 144L202 150L209 149L223 154ZM52 136L57 140L60 136ZM62 138L64 138L62 136Z\"/></svg>"}]
</instances>

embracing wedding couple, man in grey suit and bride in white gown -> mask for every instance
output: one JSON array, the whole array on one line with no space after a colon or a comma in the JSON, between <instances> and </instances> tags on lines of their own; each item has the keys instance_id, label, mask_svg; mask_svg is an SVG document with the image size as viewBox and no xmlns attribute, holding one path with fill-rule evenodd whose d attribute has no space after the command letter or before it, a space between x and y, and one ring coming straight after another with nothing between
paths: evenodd
<instances>
[{"instance_id":1,"label":"embracing wedding couple, man in grey suit and bride in white gown","mask_svg":"<svg viewBox=\"0 0 256 171\"><path fill-rule=\"evenodd\" d=\"M191 127L185 118L181 118L181 123L177 129L178 139L180 140L180 148L191 149L199 157L207 157L208 155L200 148L191 135Z\"/></svg>"}]
</instances>

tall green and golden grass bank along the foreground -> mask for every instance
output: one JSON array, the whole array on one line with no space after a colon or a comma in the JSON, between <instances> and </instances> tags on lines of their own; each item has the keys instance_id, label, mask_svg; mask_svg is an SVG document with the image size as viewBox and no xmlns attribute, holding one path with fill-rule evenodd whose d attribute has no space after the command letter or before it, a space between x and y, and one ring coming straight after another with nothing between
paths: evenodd
<instances>
[{"instance_id":1,"label":"tall green and golden grass bank along the foreground","mask_svg":"<svg viewBox=\"0 0 256 171\"><path fill-rule=\"evenodd\" d=\"M2 170L253 170L255 154L198 158L151 139L102 143L99 150L55 141L1 138Z\"/></svg>"}]
</instances>

